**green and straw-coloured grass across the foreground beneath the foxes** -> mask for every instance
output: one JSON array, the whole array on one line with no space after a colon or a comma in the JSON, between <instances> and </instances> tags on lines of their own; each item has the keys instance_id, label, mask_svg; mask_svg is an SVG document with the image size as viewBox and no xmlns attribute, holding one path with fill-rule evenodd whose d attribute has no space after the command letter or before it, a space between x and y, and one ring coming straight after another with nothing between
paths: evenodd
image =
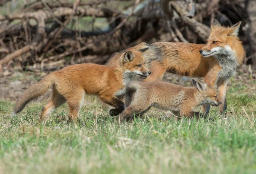
<instances>
[{"instance_id":1,"label":"green and straw-coloured grass across the foreground beneath the foxes","mask_svg":"<svg viewBox=\"0 0 256 174\"><path fill-rule=\"evenodd\" d=\"M227 118L175 121L153 109L119 124L93 97L79 123L67 123L67 105L43 125L45 103L30 103L13 119L14 103L0 101L1 174L252 174L256 173L256 94L232 83Z\"/></svg>"}]
</instances>

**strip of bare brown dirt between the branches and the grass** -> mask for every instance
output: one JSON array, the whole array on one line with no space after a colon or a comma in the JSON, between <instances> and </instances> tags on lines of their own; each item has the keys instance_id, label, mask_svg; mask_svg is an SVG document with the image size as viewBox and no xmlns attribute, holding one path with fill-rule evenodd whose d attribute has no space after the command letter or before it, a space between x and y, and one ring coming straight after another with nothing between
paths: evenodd
<instances>
[{"instance_id":1,"label":"strip of bare brown dirt between the branches and the grass","mask_svg":"<svg viewBox=\"0 0 256 174\"><path fill-rule=\"evenodd\" d=\"M249 69L249 70L248 70ZM23 93L30 85L34 84L40 78L44 77L45 72L8 72L0 77L0 100L15 101L20 94ZM198 78L195 78L198 79ZM249 80L256 80L256 71L251 71L248 66L242 66L239 69L234 80L243 81L245 86ZM163 81L180 84L182 86L191 86L190 77L182 77L176 74L166 73L163 77ZM250 91L256 90L255 85L248 86ZM45 100L51 94L51 89L42 97L39 97L37 101Z\"/></svg>"}]
</instances>

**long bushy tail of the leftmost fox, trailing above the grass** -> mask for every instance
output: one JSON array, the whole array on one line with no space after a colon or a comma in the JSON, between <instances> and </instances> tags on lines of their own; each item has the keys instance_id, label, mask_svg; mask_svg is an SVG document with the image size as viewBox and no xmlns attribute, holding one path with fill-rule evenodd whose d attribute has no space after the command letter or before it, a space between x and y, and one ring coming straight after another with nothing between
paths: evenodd
<instances>
[{"instance_id":1,"label":"long bushy tail of the leftmost fox, trailing above the grass","mask_svg":"<svg viewBox=\"0 0 256 174\"><path fill-rule=\"evenodd\" d=\"M47 75L43 79L38 80L37 83L30 86L26 91L18 98L14 109L13 115L19 113L27 103L31 100L43 95L53 85L55 77L52 74Z\"/></svg>"}]
</instances>

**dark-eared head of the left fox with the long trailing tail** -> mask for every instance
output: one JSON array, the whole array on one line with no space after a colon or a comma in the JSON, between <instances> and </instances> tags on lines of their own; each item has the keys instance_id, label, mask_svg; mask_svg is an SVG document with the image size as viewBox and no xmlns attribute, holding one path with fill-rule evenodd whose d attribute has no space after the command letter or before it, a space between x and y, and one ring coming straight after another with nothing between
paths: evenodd
<instances>
[{"instance_id":1,"label":"dark-eared head of the left fox with the long trailing tail","mask_svg":"<svg viewBox=\"0 0 256 174\"><path fill-rule=\"evenodd\" d=\"M136 75L140 78L147 78L151 72L145 67L142 53L148 48L139 51L126 51L122 54L122 68L125 74Z\"/></svg>"}]
</instances>

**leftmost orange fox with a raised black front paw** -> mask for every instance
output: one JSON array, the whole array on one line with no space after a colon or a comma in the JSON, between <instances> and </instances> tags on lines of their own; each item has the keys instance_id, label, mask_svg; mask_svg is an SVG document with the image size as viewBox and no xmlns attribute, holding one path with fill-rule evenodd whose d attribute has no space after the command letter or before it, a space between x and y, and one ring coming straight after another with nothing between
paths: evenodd
<instances>
[{"instance_id":1,"label":"leftmost orange fox with a raised black front paw","mask_svg":"<svg viewBox=\"0 0 256 174\"><path fill-rule=\"evenodd\" d=\"M116 67L84 63L52 72L21 94L15 104L14 114L52 87L52 98L42 109L40 120L45 119L66 101L70 109L70 120L76 120L84 94L98 95L103 102L114 107L110 110L110 115L118 115L124 109L124 103L118 97L125 94L125 87L131 78L146 78L150 74L145 68L142 56L147 49L123 53L120 55L119 66Z\"/></svg>"}]
</instances>

